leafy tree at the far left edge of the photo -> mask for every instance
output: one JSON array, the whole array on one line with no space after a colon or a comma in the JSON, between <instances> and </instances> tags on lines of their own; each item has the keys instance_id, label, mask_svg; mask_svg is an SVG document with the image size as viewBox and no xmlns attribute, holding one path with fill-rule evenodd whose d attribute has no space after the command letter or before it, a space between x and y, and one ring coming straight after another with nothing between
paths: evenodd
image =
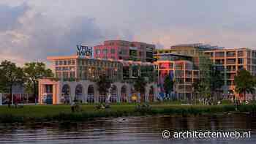
<instances>
[{"instance_id":1,"label":"leafy tree at the far left edge of the photo","mask_svg":"<svg viewBox=\"0 0 256 144\"><path fill-rule=\"evenodd\" d=\"M0 87L1 91L9 92L11 101L12 87L23 83L23 70L11 61L2 61L0 65ZM9 102L10 105L10 102Z\"/></svg>"}]
</instances>

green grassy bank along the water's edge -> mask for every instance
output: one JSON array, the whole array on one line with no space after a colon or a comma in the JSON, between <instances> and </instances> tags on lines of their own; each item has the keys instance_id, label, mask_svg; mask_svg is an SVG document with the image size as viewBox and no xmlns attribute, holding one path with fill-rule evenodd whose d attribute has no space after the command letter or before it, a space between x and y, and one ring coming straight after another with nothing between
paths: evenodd
<instances>
[{"instance_id":1,"label":"green grassy bank along the water's edge","mask_svg":"<svg viewBox=\"0 0 256 144\"><path fill-rule=\"evenodd\" d=\"M234 105L173 105L154 103L150 107L136 107L135 104L111 105L109 109L97 110L95 105L81 105L80 112L72 113L69 105L26 105L21 108L0 106L0 122L44 122L44 121L87 121L94 118L120 117L130 115L201 115L235 112ZM241 105L238 112L256 112L256 105Z\"/></svg>"}]
</instances>

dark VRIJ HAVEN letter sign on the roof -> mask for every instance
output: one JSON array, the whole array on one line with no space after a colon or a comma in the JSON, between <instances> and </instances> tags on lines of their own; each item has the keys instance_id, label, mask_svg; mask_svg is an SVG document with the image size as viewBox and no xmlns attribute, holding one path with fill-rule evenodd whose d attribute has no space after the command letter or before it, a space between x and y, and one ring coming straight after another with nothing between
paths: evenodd
<instances>
[{"instance_id":1,"label":"dark VRIJ HAVEN letter sign on the roof","mask_svg":"<svg viewBox=\"0 0 256 144\"><path fill-rule=\"evenodd\" d=\"M78 58L93 58L94 48L84 45L77 45L77 56Z\"/></svg>"}]
</instances>

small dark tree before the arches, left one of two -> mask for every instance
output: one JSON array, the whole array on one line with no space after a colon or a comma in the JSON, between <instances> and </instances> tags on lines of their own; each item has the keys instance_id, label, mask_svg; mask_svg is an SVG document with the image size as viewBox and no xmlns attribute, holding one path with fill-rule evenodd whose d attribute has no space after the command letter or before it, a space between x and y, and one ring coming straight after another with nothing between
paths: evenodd
<instances>
[{"instance_id":1,"label":"small dark tree before the arches, left one of two","mask_svg":"<svg viewBox=\"0 0 256 144\"><path fill-rule=\"evenodd\" d=\"M99 94L108 94L111 83L111 80L106 75L99 75L99 80L97 80Z\"/></svg>"}]
</instances>

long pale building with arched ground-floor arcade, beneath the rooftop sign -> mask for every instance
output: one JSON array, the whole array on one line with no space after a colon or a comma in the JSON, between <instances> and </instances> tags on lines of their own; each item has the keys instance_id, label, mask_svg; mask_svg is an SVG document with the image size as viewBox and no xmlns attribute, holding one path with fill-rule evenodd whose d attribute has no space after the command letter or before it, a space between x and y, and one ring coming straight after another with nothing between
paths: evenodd
<instances>
[{"instance_id":1,"label":"long pale building with arched ground-floor arcade, beneath the rooftop sign","mask_svg":"<svg viewBox=\"0 0 256 144\"><path fill-rule=\"evenodd\" d=\"M149 62L78 56L55 56L48 57L48 60L53 62L56 77L39 80L40 104L69 104L74 100L83 103L106 102L108 97L99 95L97 88L100 75L106 75L113 83L110 102L153 102L156 99L154 64ZM136 95L132 83L137 77L143 77L148 82L145 94Z\"/></svg>"}]
</instances>

